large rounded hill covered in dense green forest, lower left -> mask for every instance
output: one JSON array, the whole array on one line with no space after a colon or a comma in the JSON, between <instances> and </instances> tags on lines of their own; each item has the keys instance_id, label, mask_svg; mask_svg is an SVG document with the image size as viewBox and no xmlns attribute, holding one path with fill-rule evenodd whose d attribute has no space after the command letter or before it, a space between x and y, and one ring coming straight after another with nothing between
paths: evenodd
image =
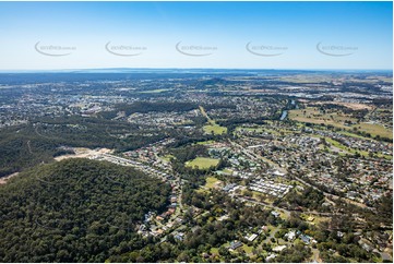
<instances>
[{"instance_id":1,"label":"large rounded hill covered in dense green forest, lower left","mask_svg":"<svg viewBox=\"0 0 394 264\"><path fill-rule=\"evenodd\" d=\"M109 163L69 159L0 187L0 262L104 262L141 243L135 225L170 187Z\"/></svg>"}]
</instances>

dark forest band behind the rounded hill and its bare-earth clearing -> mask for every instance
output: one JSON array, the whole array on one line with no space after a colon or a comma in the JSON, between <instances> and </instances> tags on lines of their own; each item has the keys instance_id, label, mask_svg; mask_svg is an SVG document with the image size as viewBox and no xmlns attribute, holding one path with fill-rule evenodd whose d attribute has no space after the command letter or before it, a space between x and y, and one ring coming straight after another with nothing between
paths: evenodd
<instances>
[{"instance_id":1,"label":"dark forest band behind the rounded hill and its bare-earth clearing","mask_svg":"<svg viewBox=\"0 0 394 264\"><path fill-rule=\"evenodd\" d=\"M124 134L132 134L124 136ZM43 118L29 124L1 129L0 177L62 155L60 146L107 147L132 151L167 137L165 131L154 134L127 122L77 116Z\"/></svg>"}]
</instances>

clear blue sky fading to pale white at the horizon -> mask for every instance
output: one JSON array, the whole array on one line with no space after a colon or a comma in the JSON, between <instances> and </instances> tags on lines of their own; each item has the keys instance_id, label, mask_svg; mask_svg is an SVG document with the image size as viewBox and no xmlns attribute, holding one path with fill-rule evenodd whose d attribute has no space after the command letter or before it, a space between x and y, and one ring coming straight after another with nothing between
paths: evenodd
<instances>
[{"instance_id":1,"label":"clear blue sky fading to pale white at the horizon","mask_svg":"<svg viewBox=\"0 0 394 264\"><path fill-rule=\"evenodd\" d=\"M392 2L0 2L0 70L393 69Z\"/></svg>"}]
</instances>

